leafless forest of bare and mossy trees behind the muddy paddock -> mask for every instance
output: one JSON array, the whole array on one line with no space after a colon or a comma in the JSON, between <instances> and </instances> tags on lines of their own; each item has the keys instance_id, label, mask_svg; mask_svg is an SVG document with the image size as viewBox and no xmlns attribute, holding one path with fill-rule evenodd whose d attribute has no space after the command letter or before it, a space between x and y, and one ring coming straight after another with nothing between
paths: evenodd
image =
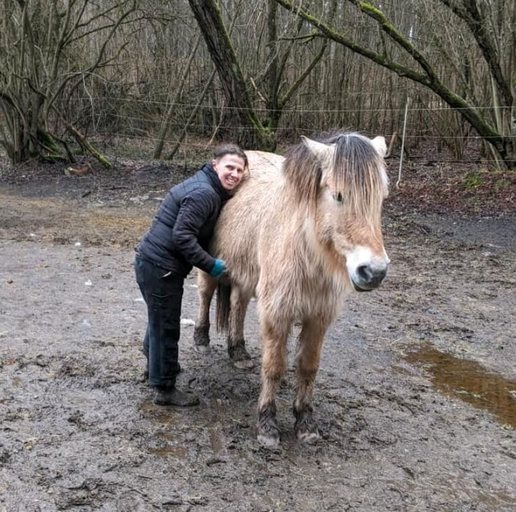
<instances>
[{"instance_id":1,"label":"leafless forest of bare and mossy trees behind the muddy paddock","mask_svg":"<svg viewBox=\"0 0 516 512\"><path fill-rule=\"evenodd\" d=\"M6 0L0 145L110 167L339 128L507 170L515 27L510 0Z\"/></svg>"}]
</instances>

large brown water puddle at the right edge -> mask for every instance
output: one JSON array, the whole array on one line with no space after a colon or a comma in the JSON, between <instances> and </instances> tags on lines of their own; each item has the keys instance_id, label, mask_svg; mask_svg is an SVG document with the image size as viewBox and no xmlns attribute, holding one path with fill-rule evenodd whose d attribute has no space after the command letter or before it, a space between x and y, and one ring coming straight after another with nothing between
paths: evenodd
<instances>
[{"instance_id":1,"label":"large brown water puddle at the right edge","mask_svg":"<svg viewBox=\"0 0 516 512\"><path fill-rule=\"evenodd\" d=\"M475 361L458 359L429 343L415 348L404 359L428 370L441 393L484 409L504 425L516 428L516 380L504 379Z\"/></svg>"}]
</instances>

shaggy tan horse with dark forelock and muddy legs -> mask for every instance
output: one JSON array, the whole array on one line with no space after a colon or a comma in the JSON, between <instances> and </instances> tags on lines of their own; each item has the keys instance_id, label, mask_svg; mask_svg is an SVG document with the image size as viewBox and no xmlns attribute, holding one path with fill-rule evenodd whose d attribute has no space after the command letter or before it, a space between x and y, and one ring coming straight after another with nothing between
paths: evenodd
<instances>
[{"instance_id":1,"label":"shaggy tan horse with dark forelock and muddy legs","mask_svg":"<svg viewBox=\"0 0 516 512\"><path fill-rule=\"evenodd\" d=\"M228 333L237 368L253 366L244 317L256 296L263 345L258 442L276 446L276 395L286 371L287 340L300 324L295 356L295 434L320 434L312 396L325 333L353 289L376 289L390 260L381 209L388 195L385 139L358 133L302 137L286 156L247 151L249 176L223 207L211 242L228 276L219 283L217 323ZM226 283L224 283L226 280ZM209 305L217 281L198 273L198 349L209 346Z\"/></svg>"}]
</instances>

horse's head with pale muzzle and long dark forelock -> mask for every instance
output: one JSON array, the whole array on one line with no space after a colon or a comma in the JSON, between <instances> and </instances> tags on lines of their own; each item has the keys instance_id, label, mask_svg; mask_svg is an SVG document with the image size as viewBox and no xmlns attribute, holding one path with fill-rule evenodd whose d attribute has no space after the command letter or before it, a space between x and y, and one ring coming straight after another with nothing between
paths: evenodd
<instances>
[{"instance_id":1,"label":"horse's head with pale muzzle and long dark forelock","mask_svg":"<svg viewBox=\"0 0 516 512\"><path fill-rule=\"evenodd\" d=\"M339 134L324 142L303 139L316 160L316 236L345 268L358 291L377 288L389 266L381 208L388 195L383 137Z\"/></svg>"}]
</instances>

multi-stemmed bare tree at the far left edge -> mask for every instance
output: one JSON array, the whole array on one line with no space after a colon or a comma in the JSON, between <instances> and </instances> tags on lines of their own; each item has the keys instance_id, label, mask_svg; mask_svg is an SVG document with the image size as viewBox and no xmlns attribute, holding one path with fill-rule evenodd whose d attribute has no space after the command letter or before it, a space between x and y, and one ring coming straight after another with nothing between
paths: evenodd
<instances>
[{"instance_id":1,"label":"multi-stemmed bare tree at the far left edge","mask_svg":"<svg viewBox=\"0 0 516 512\"><path fill-rule=\"evenodd\" d=\"M127 43L111 47L131 20L135 0L34 2L6 0L0 7L0 144L13 163L27 158L71 160L61 131L110 162L67 119L71 92L117 59ZM88 52L84 52L87 47ZM64 129L64 130L63 130Z\"/></svg>"}]
</instances>

